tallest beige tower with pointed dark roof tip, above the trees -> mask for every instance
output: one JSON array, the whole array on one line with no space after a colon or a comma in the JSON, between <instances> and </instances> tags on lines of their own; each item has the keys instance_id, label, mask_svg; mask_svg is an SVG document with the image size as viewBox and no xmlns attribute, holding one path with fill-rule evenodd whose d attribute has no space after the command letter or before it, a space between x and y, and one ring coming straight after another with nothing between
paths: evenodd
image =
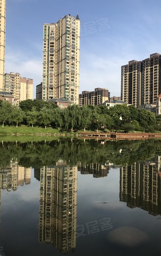
<instances>
[{"instance_id":1,"label":"tallest beige tower with pointed dark roof tip, above the trees","mask_svg":"<svg viewBox=\"0 0 161 256\"><path fill-rule=\"evenodd\" d=\"M42 99L79 103L80 19L69 15L43 25Z\"/></svg>"}]
</instances>

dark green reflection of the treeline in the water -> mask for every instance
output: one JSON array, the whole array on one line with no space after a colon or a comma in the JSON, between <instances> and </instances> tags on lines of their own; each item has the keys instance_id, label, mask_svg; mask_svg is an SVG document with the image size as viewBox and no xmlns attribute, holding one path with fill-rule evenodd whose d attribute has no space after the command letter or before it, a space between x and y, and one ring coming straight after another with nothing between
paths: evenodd
<instances>
[{"instance_id":1,"label":"dark green reflection of the treeline in the water","mask_svg":"<svg viewBox=\"0 0 161 256\"><path fill-rule=\"evenodd\" d=\"M1 143L0 167L7 167L10 161L19 165L39 168L44 165L55 165L60 159L67 164L111 162L115 165L132 164L148 161L161 155L160 142L149 141L107 141L101 144L95 140L62 139L52 142Z\"/></svg>"}]
</instances>

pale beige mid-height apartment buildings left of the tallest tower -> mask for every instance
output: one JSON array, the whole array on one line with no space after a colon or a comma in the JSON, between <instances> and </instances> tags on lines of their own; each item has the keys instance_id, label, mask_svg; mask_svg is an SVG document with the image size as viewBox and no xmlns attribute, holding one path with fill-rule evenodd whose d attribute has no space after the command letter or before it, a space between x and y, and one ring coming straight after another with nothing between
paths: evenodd
<instances>
[{"instance_id":1,"label":"pale beige mid-height apartment buildings left of the tallest tower","mask_svg":"<svg viewBox=\"0 0 161 256\"><path fill-rule=\"evenodd\" d=\"M6 73L4 91L14 96L17 105L22 100L33 99L33 79L21 77L19 73Z\"/></svg>"}]
</instances>

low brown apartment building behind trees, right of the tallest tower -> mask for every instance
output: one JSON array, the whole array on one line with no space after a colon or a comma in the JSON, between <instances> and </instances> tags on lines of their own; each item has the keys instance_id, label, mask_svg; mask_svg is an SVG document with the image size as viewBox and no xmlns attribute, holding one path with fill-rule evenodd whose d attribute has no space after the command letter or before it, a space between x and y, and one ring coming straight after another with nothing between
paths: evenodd
<instances>
[{"instance_id":1,"label":"low brown apartment building behind trees, right of the tallest tower","mask_svg":"<svg viewBox=\"0 0 161 256\"><path fill-rule=\"evenodd\" d=\"M105 88L96 88L95 91L83 91L79 94L79 106L83 105L101 105L110 98L110 93Z\"/></svg>"}]
</instances>

